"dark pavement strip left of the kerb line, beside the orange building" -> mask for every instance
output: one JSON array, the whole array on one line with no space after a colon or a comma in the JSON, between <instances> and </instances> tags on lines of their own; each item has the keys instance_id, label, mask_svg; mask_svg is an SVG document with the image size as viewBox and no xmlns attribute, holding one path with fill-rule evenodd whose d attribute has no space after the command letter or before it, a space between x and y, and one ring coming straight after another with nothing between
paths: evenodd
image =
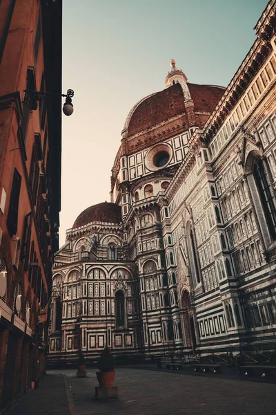
<instances>
[{"instance_id":1,"label":"dark pavement strip left of the kerb line, beside the orange building","mask_svg":"<svg viewBox=\"0 0 276 415\"><path fill-rule=\"evenodd\" d=\"M71 415L69 404L66 377L58 373L47 374L39 381L39 388L23 394L7 415Z\"/></svg>"}]
</instances>

